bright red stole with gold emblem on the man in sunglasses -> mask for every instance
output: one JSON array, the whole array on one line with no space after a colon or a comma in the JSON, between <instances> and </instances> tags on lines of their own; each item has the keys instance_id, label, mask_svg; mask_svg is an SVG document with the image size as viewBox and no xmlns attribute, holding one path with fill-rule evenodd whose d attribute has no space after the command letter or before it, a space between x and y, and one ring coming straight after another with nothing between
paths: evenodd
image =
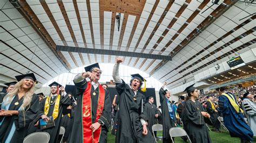
<instances>
[{"instance_id":1,"label":"bright red stole with gold emblem on the man in sunglasses","mask_svg":"<svg viewBox=\"0 0 256 143\"><path fill-rule=\"evenodd\" d=\"M92 111L91 111L91 82L87 82L87 87L83 93L83 104L82 104L82 123L83 123L83 142L99 142L100 132L102 131L102 127L100 126L98 130L94 133L90 129L92 125ZM102 115L102 111L104 108L104 100L105 100L105 91L102 85L99 84L99 96L98 96L98 105L96 112L96 121L98 121L99 117Z\"/></svg>"}]
</instances>

